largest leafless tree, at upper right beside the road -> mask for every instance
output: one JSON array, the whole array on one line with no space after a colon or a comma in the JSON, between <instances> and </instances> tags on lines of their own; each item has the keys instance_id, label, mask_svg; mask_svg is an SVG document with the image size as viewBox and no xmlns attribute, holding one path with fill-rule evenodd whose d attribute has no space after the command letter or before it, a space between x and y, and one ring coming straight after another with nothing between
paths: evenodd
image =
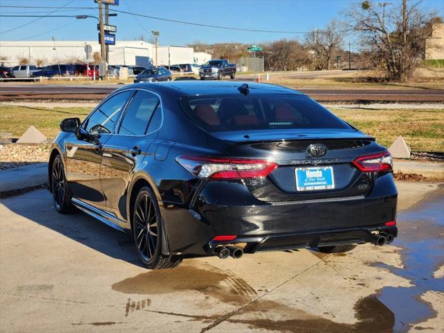
<instances>
[{"instance_id":1,"label":"largest leafless tree, at upper right beside the road","mask_svg":"<svg viewBox=\"0 0 444 333\"><path fill-rule=\"evenodd\" d=\"M403 0L400 6L386 8L387 3L366 0L346 14L352 31L361 35L362 50L372 55L388 80L408 80L424 57L433 15L419 3Z\"/></svg>"}]
</instances>

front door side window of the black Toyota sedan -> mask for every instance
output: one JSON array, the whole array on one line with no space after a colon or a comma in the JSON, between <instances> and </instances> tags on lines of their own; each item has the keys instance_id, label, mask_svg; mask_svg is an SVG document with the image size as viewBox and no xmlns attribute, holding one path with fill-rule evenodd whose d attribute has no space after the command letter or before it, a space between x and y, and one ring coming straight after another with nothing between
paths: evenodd
<instances>
[{"instance_id":1,"label":"front door side window of the black Toyota sedan","mask_svg":"<svg viewBox=\"0 0 444 333\"><path fill-rule=\"evenodd\" d=\"M128 90L112 96L97 108L93 114L83 123L83 128L88 133L99 134L114 133L114 128L126 101L133 92Z\"/></svg>"}]
</instances>

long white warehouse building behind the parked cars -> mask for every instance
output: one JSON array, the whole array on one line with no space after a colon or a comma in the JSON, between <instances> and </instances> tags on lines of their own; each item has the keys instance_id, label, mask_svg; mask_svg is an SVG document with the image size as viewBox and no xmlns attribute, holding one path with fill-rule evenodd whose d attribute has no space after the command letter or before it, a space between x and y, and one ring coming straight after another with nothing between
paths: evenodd
<instances>
[{"instance_id":1,"label":"long white warehouse building behind the parked cars","mask_svg":"<svg viewBox=\"0 0 444 333\"><path fill-rule=\"evenodd\" d=\"M140 41L117 41L109 46L110 65L147 66L156 63L155 45ZM0 40L1 62L8 66L18 65L21 60L30 64L50 65L69 62L94 62L100 54L98 41L28 41L12 42ZM182 63L204 63L211 55L186 46L159 46L157 48L157 65L174 65ZM205 61L203 61L203 60ZM202 61L201 61L202 60Z\"/></svg>"}]
</instances>

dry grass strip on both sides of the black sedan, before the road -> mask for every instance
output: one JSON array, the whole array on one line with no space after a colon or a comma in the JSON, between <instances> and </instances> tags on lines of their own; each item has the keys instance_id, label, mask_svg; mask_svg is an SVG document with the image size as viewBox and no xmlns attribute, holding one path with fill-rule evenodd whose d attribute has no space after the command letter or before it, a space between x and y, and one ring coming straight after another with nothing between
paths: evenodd
<instances>
[{"instance_id":1,"label":"dry grass strip on both sides of the black sedan, before the road","mask_svg":"<svg viewBox=\"0 0 444 333\"><path fill-rule=\"evenodd\" d=\"M91 108L29 108L0 105L0 133L19 137L31 125L46 137L56 137L62 119L84 119ZM412 151L444 152L444 107L439 110L365 110L332 108L364 133L373 135L384 146L402 135Z\"/></svg>"}]
</instances>

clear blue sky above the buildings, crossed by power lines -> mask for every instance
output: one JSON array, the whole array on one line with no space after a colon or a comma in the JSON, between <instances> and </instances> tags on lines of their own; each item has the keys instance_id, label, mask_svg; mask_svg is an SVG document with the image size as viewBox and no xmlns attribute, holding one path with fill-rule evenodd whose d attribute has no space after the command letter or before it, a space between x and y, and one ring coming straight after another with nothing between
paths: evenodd
<instances>
[{"instance_id":1,"label":"clear blue sky above the buildings, crossed by power lines","mask_svg":"<svg viewBox=\"0 0 444 333\"><path fill-rule=\"evenodd\" d=\"M381 0L382 1L382 0ZM385 0L384 0L385 1ZM391 0L399 3L400 0ZM236 28L274 31L311 31L321 29L337 17L355 0L120 0L119 10L139 14ZM422 6L444 15L443 0L425 0ZM96 7L94 0L0 0L1 6L56 6ZM0 8L3 15L47 15L55 9ZM52 15L98 15L98 10L62 8ZM31 22L32 17L0 17L0 40L96 40L95 19L43 18ZM203 43L242 42L259 43L280 38L299 38L294 33L252 33L203 28L119 13L111 17L117 26L117 40L134 40L140 35L149 37L149 31L160 31L160 44L185 45L195 40Z\"/></svg>"}]
</instances>

